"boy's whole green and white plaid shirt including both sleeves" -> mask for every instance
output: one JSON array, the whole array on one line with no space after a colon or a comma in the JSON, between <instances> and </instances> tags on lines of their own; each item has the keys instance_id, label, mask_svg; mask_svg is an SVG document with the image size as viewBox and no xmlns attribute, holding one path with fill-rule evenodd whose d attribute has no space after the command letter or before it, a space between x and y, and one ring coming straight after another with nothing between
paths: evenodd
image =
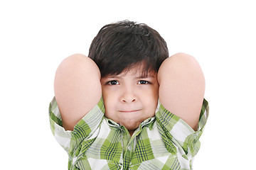
<instances>
[{"instance_id":1,"label":"boy's whole green and white plaid shirt including both sleeves","mask_svg":"<svg viewBox=\"0 0 256 170\"><path fill-rule=\"evenodd\" d=\"M55 98L51 101L50 128L68 152L68 169L192 169L208 102L203 101L196 132L160 103L154 118L144 120L132 137L104 113L101 99L73 131L65 131Z\"/></svg>"}]
</instances>

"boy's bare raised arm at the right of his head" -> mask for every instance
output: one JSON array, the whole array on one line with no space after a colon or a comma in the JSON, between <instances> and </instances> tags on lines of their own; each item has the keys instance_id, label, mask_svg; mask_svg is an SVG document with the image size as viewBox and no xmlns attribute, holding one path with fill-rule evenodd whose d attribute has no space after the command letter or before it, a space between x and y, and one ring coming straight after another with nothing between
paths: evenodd
<instances>
[{"instance_id":1,"label":"boy's bare raised arm at the right of his head","mask_svg":"<svg viewBox=\"0 0 256 170\"><path fill-rule=\"evenodd\" d=\"M169 57L161 64L158 81L164 108L197 130L205 79L196 59L183 53Z\"/></svg>"}]
</instances>

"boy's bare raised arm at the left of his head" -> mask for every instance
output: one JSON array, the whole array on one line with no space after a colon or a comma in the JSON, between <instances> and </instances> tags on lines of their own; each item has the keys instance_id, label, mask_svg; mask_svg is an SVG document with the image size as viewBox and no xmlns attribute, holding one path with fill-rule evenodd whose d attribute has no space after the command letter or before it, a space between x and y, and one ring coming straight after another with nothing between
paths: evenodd
<instances>
[{"instance_id":1,"label":"boy's bare raised arm at the left of his head","mask_svg":"<svg viewBox=\"0 0 256 170\"><path fill-rule=\"evenodd\" d=\"M54 80L55 99L63 119L63 128L73 130L102 94L100 70L85 55L71 55L60 63Z\"/></svg>"}]
</instances>

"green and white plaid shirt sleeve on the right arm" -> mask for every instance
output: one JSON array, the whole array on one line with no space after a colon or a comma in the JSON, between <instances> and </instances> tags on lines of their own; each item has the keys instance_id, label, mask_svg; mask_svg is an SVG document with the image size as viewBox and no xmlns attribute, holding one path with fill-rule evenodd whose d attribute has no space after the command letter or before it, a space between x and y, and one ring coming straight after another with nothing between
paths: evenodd
<instances>
[{"instance_id":1,"label":"green and white plaid shirt sleeve on the right arm","mask_svg":"<svg viewBox=\"0 0 256 170\"><path fill-rule=\"evenodd\" d=\"M160 103L159 111L156 112L156 120L164 130L166 137L178 148L177 152L181 152L184 158L193 158L200 148L199 138L205 128L208 115L208 101L203 99L198 130L194 131L184 120L167 111Z\"/></svg>"}]
</instances>

